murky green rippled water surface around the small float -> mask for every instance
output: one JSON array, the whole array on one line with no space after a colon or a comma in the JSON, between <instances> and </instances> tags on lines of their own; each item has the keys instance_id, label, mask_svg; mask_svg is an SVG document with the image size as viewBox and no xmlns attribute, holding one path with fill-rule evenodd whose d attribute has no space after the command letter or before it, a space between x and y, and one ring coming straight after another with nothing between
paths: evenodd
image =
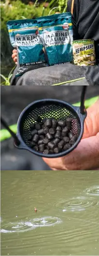
<instances>
[{"instance_id":1,"label":"murky green rippled water surface around the small float","mask_svg":"<svg viewBox=\"0 0 99 256\"><path fill-rule=\"evenodd\" d=\"M0 225L2 256L98 256L99 171L1 171Z\"/></svg>"}]
</instances>

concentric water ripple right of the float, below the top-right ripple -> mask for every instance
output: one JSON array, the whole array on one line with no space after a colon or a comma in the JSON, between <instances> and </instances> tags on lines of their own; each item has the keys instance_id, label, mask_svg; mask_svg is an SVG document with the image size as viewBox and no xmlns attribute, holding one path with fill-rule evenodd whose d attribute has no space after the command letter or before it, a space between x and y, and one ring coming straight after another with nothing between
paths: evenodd
<instances>
[{"instance_id":1,"label":"concentric water ripple right of the float, below the top-right ripple","mask_svg":"<svg viewBox=\"0 0 99 256\"><path fill-rule=\"evenodd\" d=\"M84 211L86 208L94 207L99 204L99 201L96 201L94 198L76 197L57 202L55 204L58 208L61 206L63 212L74 212Z\"/></svg>"}]
</instances>

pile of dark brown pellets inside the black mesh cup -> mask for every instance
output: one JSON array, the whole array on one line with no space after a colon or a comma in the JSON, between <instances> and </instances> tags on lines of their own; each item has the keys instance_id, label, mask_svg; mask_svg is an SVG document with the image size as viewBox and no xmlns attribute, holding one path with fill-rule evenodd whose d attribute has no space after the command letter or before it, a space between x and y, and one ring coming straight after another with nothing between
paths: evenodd
<instances>
[{"instance_id":1,"label":"pile of dark brown pellets inside the black mesh cup","mask_svg":"<svg viewBox=\"0 0 99 256\"><path fill-rule=\"evenodd\" d=\"M29 146L43 154L57 154L66 151L76 142L71 130L72 119L66 121L36 116L30 125L31 134L27 136Z\"/></svg>"}]
</instances>

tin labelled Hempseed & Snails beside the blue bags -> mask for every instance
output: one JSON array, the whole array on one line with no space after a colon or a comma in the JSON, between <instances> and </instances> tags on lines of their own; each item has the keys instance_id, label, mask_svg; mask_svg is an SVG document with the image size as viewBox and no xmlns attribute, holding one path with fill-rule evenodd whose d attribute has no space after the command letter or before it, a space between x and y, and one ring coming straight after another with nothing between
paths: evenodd
<instances>
[{"instance_id":1,"label":"tin labelled Hempseed & Snails beside the blue bags","mask_svg":"<svg viewBox=\"0 0 99 256\"><path fill-rule=\"evenodd\" d=\"M76 40L72 42L74 65L93 66L96 64L94 40Z\"/></svg>"}]
</instances>

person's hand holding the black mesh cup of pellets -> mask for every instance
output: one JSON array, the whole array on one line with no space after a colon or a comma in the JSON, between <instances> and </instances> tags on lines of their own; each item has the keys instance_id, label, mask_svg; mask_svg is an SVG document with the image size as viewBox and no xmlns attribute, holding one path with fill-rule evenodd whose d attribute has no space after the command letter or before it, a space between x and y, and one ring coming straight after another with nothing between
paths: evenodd
<instances>
[{"instance_id":1,"label":"person's hand holding the black mesh cup of pellets","mask_svg":"<svg viewBox=\"0 0 99 256\"><path fill-rule=\"evenodd\" d=\"M52 170L99 170L99 100L87 109L80 144L68 155L43 158Z\"/></svg>"}]
</instances>

